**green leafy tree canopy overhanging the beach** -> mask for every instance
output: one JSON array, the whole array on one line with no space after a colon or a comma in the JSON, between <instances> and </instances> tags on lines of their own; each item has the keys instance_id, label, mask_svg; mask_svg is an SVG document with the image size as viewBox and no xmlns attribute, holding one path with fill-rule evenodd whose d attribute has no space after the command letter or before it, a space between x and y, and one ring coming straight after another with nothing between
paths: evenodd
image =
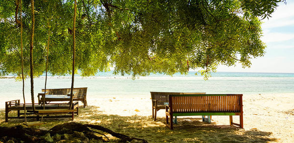
<instances>
[{"instance_id":1,"label":"green leafy tree canopy overhanging the beach","mask_svg":"<svg viewBox=\"0 0 294 143\"><path fill-rule=\"evenodd\" d=\"M22 0L24 67L29 74L30 0ZM71 73L74 0L35 0L34 75ZM76 72L114 67L132 76L200 70L265 54L261 19L284 0L78 0ZM0 76L21 73L19 0L0 1Z\"/></svg>"}]
</instances>

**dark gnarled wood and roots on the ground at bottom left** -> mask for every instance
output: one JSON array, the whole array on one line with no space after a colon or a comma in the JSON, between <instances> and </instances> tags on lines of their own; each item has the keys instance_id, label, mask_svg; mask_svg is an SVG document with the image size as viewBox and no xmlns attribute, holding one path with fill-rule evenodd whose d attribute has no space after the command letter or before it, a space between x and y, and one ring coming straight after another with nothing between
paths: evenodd
<instances>
[{"instance_id":1,"label":"dark gnarled wood and roots on the ground at bottom left","mask_svg":"<svg viewBox=\"0 0 294 143\"><path fill-rule=\"evenodd\" d=\"M49 138L50 136L55 137L55 136L61 135L64 140L67 140L65 137L66 135L67 136L70 135L73 138L82 136L83 140L85 141L89 141L89 140L98 140L101 142L109 141L107 137L106 137L107 139L103 139L102 137L96 136L94 133L98 133L98 132L93 129L109 133L112 136L119 138L120 142L127 142L127 141L131 142L132 140L137 140L137 141L140 141L141 143L148 143L144 139L129 137L120 133L116 133L110 129L104 128L99 125L81 124L77 122L69 122L69 123L56 125L50 130L28 128L28 127L23 127L21 125L14 126L14 127L0 127L0 141L4 143L7 142L8 140L14 140L16 142L25 141L25 143L43 143L45 140L44 138L47 134L49 134ZM98 133L98 134L101 134L101 133ZM58 140L61 140L61 138L57 140L54 138L54 142L57 142Z\"/></svg>"}]
</instances>

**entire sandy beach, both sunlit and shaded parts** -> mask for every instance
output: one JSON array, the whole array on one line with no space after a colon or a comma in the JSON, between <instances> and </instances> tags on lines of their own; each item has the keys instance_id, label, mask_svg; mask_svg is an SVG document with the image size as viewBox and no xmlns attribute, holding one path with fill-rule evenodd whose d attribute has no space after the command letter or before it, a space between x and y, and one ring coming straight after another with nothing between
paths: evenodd
<instances>
[{"instance_id":1,"label":"entire sandy beach, both sunlit and shaded parts","mask_svg":"<svg viewBox=\"0 0 294 143\"><path fill-rule=\"evenodd\" d=\"M150 97L88 98L89 106L80 108L74 121L98 124L116 132L140 137L148 142L294 142L294 94L244 95L244 129L230 127L228 116L213 116L211 123L200 116L180 117L174 130L165 125L164 110L158 111L157 121L151 119ZM239 118L233 118L238 122ZM34 120L34 119L31 119ZM4 122L0 111L0 125L20 124L23 119ZM69 119L45 119L39 128L49 129Z\"/></svg>"}]
</instances>

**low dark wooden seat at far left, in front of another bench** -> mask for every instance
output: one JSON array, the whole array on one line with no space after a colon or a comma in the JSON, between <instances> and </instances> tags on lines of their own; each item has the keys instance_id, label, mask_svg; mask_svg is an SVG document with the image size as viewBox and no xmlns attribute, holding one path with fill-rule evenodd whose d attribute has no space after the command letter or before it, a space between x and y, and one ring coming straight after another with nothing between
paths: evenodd
<instances>
[{"instance_id":1,"label":"low dark wooden seat at far left, in front of another bench","mask_svg":"<svg viewBox=\"0 0 294 143\"><path fill-rule=\"evenodd\" d=\"M37 118L39 119L41 115L61 115L61 116L44 116L43 118L72 118L73 114L76 113L78 115L78 101L73 102L72 109L69 110L68 103L49 103L46 105L45 110L43 110L42 105L35 104L35 113L32 112L32 104L26 103L25 109L30 111L30 113L26 113L26 115L37 115L37 116L27 116L26 118ZM17 111L17 116L12 117L8 116L10 111ZM5 122L8 122L8 119L24 119L25 117L21 116L24 113L24 104L20 103L20 100L12 100L5 102ZM64 114L72 114L72 115L64 115Z\"/></svg>"}]
</instances>

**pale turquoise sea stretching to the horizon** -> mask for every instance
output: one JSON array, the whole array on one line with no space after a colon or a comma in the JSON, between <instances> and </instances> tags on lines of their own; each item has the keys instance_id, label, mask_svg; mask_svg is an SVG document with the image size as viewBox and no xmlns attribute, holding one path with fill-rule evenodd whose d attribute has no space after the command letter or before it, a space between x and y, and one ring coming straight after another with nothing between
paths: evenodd
<instances>
[{"instance_id":1,"label":"pale turquoise sea stretching to the horizon","mask_svg":"<svg viewBox=\"0 0 294 143\"><path fill-rule=\"evenodd\" d=\"M294 73L264 72L215 72L208 80L196 71L183 75L150 74L132 78L130 75L114 75L113 71L98 72L95 76L76 75L74 87L88 87L87 98L144 97L150 92L201 92L206 94L279 94L294 93ZM0 109L5 101L21 99L23 102L23 82L12 78L13 75L0 78ZM71 75L50 76L47 88L71 88ZM34 97L45 86L45 76L34 78ZM25 99L31 102L30 79L25 80Z\"/></svg>"}]
</instances>

